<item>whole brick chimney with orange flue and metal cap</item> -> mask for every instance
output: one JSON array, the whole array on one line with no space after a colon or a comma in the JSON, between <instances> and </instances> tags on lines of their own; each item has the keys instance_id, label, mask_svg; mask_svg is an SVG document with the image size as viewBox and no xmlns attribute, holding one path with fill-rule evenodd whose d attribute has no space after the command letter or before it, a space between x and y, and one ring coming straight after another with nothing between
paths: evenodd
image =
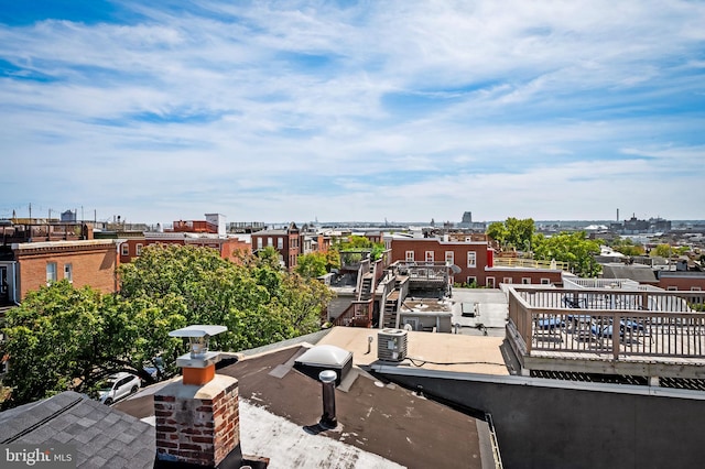
<instances>
[{"instance_id":1,"label":"whole brick chimney with orange flue and metal cap","mask_svg":"<svg viewBox=\"0 0 705 469\"><path fill-rule=\"evenodd\" d=\"M159 461L217 467L239 446L238 381L216 374L220 353L208 351L208 338L225 330L188 326L170 332L187 337L191 352L176 360L183 380L154 394Z\"/></svg>"}]
</instances>

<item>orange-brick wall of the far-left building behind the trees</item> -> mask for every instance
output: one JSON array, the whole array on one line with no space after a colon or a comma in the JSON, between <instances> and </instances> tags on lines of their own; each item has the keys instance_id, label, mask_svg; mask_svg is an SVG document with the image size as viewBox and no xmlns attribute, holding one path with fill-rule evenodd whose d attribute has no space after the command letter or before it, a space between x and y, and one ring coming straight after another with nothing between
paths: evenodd
<instances>
[{"instance_id":1,"label":"orange-brick wall of the far-left building behind the trees","mask_svg":"<svg viewBox=\"0 0 705 469\"><path fill-rule=\"evenodd\" d=\"M115 244L108 244L91 250L76 251L44 251L39 253L22 253L18 255L20 265L20 298L26 293L46 285L46 264L56 262L56 280L64 279L64 265L72 264L75 287L90 285L102 293L116 291Z\"/></svg>"}]
</instances>

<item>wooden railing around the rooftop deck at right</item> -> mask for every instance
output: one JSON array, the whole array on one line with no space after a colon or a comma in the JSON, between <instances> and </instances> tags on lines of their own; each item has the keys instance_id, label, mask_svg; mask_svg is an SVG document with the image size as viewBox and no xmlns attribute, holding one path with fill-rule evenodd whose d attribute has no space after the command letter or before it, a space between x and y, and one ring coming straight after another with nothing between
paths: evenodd
<instances>
[{"instance_id":1,"label":"wooden railing around the rooftop deck at right","mask_svg":"<svg viewBox=\"0 0 705 469\"><path fill-rule=\"evenodd\" d=\"M665 357L705 364L704 301L704 292L510 288L509 319L528 356Z\"/></svg>"}]
</instances>

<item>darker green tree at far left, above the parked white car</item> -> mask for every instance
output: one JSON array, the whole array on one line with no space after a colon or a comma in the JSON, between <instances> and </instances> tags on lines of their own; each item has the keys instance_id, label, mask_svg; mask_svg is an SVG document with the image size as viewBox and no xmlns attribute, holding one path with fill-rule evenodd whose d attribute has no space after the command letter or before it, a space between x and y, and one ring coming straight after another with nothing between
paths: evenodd
<instances>
[{"instance_id":1,"label":"darker green tree at far left, above the parked white car","mask_svg":"<svg viewBox=\"0 0 705 469\"><path fill-rule=\"evenodd\" d=\"M88 286L74 288L67 281L30 292L6 320L2 348L10 367L3 384L13 389L10 404L66 390L90 393L117 371L149 379L142 366L153 356L140 350L139 338L145 336L141 327L158 326L132 320L130 307Z\"/></svg>"}]
</instances>

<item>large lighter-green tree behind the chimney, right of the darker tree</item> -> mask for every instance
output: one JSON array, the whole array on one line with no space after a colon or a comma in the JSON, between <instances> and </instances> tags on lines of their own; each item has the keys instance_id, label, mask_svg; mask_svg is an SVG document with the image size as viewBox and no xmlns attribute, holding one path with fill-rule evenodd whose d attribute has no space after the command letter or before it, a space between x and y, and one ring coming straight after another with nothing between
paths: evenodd
<instances>
[{"instance_id":1,"label":"large lighter-green tree behind the chimney, right of the darker tree","mask_svg":"<svg viewBox=\"0 0 705 469\"><path fill-rule=\"evenodd\" d=\"M121 292L131 301L174 308L186 324L227 326L213 338L214 349L236 351L316 330L333 292L315 279L285 272L275 250L258 254L235 264L209 248L148 247L121 266ZM292 310L300 305L308 307ZM299 319L302 313L306 320Z\"/></svg>"}]
</instances>

